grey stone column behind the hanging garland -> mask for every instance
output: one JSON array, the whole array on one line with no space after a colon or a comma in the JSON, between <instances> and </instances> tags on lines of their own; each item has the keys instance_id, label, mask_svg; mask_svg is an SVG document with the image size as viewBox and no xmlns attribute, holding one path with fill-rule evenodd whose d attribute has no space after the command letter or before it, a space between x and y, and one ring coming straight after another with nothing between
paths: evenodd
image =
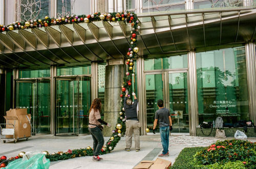
<instances>
[{"instance_id":1,"label":"grey stone column behind the hanging garland","mask_svg":"<svg viewBox=\"0 0 256 169\"><path fill-rule=\"evenodd\" d=\"M103 136L111 136L121 109L121 86L124 77L124 60L110 59L105 67L104 121L112 125L104 127Z\"/></svg>"}]
</instances>

